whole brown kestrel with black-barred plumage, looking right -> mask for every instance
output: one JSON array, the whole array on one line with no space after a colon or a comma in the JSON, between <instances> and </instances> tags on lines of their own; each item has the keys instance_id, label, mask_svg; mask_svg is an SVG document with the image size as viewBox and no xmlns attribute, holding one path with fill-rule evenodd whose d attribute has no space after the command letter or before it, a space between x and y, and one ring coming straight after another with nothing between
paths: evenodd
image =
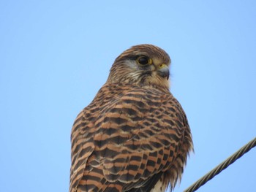
<instances>
[{"instance_id":1,"label":"whole brown kestrel with black-barred plumage, looking right","mask_svg":"<svg viewBox=\"0 0 256 192\"><path fill-rule=\"evenodd\" d=\"M193 142L169 77L170 56L155 45L116 58L72 126L69 192L173 191Z\"/></svg>"}]
</instances>

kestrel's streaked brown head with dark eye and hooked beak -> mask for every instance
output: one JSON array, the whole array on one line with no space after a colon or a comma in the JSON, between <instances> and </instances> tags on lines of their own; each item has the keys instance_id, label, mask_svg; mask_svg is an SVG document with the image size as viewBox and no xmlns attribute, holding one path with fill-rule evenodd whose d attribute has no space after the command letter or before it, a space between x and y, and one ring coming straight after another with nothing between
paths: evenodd
<instances>
[{"instance_id":1,"label":"kestrel's streaked brown head with dark eye and hooked beak","mask_svg":"<svg viewBox=\"0 0 256 192\"><path fill-rule=\"evenodd\" d=\"M169 88L170 57L154 45L135 45L116 58L108 82Z\"/></svg>"}]
</instances>

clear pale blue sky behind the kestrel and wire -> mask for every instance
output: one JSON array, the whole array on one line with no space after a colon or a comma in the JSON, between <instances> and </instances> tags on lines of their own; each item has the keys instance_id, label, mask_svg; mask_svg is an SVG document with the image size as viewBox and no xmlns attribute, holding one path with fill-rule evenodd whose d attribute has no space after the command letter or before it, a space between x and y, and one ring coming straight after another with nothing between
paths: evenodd
<instances>
[{"instance_id":1,"label":"clear pale blue sky behind the kestrel and wire","mask_svg":"<svg viewBox=\"0 0 256 192\"><path fill-rule=\"evenodd\" d=\"M132 45L172 58L184 191L256 136L255 1L0 1L0 191L68 191L72 123ZM255 189L256 150L198 191Z\"/></svg>"}]
</instances>

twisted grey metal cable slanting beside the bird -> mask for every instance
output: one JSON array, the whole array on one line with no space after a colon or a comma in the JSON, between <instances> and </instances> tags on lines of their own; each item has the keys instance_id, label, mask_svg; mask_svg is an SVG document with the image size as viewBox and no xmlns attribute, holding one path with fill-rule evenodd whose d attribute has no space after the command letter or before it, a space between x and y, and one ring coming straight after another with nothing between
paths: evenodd
<instances>
[{"instance_id":1,"label":"twisted grey metal cable slanting beside the bird","mask_svg":"<svg viewBox=\"0 0 256 192\"><path fill-rule=\"evenodd\" d=\"M241 158L242 155L247 153L249 150L251 150L255 146L256 146L256 137L255 137L255 139L252 139L252 141L250 141L246 145L244 145L244 147L241 147L241 149L236 151L236 153L234 153L229 158L227 158L225 161L223 161L222 164L219 164L217 167L212 169L211 172L208 172L205 176L201 177L195 183L190 185L190 187L187 188L184 192L196 191L198 188L200 188L202 185L206 184L209 180L211 180L217 174L219 174L224 169L226 169L227 166L230 166L230 164L233 164L238 158Z\"/></svg>"}]
</instances>

